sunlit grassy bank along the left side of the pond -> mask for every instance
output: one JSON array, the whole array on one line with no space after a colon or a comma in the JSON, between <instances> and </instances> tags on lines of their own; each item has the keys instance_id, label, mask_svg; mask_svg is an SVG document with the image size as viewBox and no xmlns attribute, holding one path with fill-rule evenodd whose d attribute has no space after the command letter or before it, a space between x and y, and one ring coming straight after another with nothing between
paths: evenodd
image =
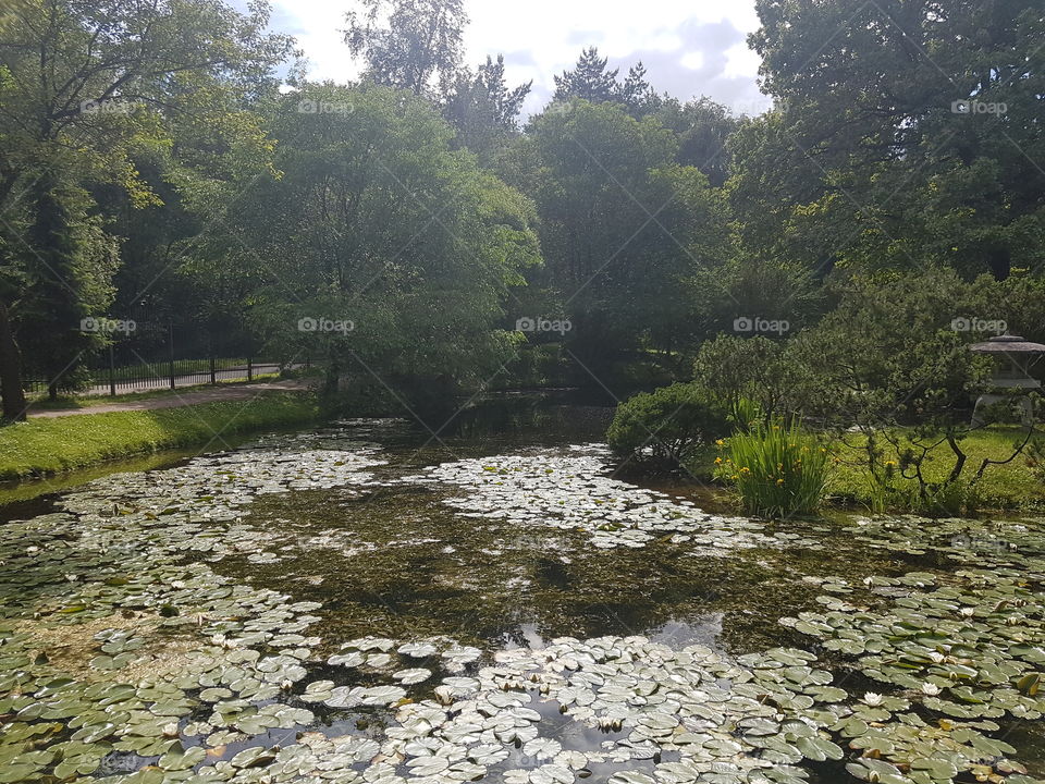
<instances>
[{"instance_id":1,"label":"sunlit grassy bank along the left side of the pond","mask_svg":"<svg viewBox=\"0 0 1045 784\"><path fill-rule=\"evenodd\" d=\"M48 476L179 446L220 446L218 433L231 437L318 417L311 395L269 392L253 401L32 419L0 428L0 480Z\"/></svg>"}]
</instances>

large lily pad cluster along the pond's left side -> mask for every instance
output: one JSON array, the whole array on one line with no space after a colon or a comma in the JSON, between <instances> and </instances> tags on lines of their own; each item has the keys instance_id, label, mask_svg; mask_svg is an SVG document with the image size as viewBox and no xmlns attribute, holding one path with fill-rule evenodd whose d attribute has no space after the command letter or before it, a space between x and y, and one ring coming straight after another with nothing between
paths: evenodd
<instances>
[{"instance_id":1,"label":"large lily pad cluster along the pond's left side","mask_svg":"<svg viewBox=\"0 0 1045 784\"><path fill-rule=\"evenodd\" d=\"M0 528L0 782L97 776L120 760L135 772L119 781L207 780L193 772L206 759L314 721L273 700L306 675L320 605L204 563L265 551L244 522L258 494L371 481L372 449L312 440L108 477ZM258 762L226 764L219 777Z\"/></svg>"}]
</instances>

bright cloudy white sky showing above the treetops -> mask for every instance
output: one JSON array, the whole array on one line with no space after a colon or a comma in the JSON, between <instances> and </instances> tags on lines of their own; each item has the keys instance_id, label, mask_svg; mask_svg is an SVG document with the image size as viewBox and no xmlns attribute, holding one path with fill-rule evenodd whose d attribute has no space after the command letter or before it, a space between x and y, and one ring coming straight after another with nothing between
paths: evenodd
<instances>
[{"instance_id":1,"label":"bright cloudy white sky showing above the treetops","mask_svg":"<svg viewBox=\"0 0 1045 784\"><path fill-rule=\"evenodd\" d=\"M359 73L339 33L351 0L272 4L272 28L297 38L311 78L344 82ZM588 46L599 47L622 77L641 60L659 93L706 95L738 114L770 107L758 88L759 57L746 42L759 26L754 0L465 0L465 8L468 64L504 54L511 85L533 81L527 114L549 101L553 76Z\"/></svg>"}]
</instances>

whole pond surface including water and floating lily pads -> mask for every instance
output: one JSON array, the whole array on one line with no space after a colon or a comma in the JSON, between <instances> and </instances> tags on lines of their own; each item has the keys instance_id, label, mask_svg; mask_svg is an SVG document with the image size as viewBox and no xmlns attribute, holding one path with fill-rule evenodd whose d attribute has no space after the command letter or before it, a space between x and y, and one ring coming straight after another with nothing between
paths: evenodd
<instances>
[{"instance_id":1,"label":"whole pond surface including water and floating lily pads","mask_svg":"<svg viewBox=\"0 0 1045 784\"><path fill-rule=\"evenodd\" d=\"M0 782L1045 777L1040 520L751 520L618 470L607 416L352 420L15 497Z\"/></svg>"}]
</instances>

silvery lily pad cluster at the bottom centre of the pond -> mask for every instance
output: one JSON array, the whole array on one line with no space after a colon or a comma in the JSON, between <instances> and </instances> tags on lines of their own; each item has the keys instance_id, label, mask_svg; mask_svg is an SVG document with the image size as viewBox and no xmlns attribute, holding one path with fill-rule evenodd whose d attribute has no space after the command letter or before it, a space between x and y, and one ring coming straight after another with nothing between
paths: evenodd
<instances>
[{"instance_id":1,"label":"silvery lily pad cluster at the bottom centre of the pond","mask_svg":"<svg viewBox=\"0 0 1045 784\"><path fill-rule=\"evenodd\" d=\"M355 640L330 661L429 658L439 642ZM439 656L462 654L479 651L451 647ZM396 706L396 726L369 748L373 763L359 781L569 784L597 772L613 784L789 784L808 779L796 767L802 760L843 756L825 727L849 713L846 693L811 666L814 659L776 649L730 662L702 646L673 650L644 637L560 638L497 651L472 675L444 677L428 699L396 702L405 691L394 686L339 694L332 682L310 684L306 696L337 707ZM415 672L392 677L405 683ZM571 748L562 727L545 730L550 715L607 739Z\"/></svg>"}]
</instances>

